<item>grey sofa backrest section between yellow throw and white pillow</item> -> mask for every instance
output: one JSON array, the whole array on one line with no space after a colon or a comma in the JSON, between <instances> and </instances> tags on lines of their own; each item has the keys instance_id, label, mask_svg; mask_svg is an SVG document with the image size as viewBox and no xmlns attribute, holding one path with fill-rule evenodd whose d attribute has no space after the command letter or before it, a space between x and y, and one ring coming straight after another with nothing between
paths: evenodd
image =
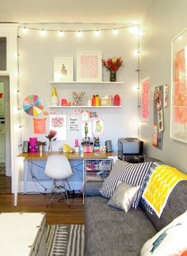
<instances>
[{"instance_id":1,"label":"grey sofa backrest section between yellow throw and white pillow","mask_svg":"<svg viewBox=\"0 0 187 256\"><path fill-rule=\"evenodd\" d=\"M141 205L141 207L143 207ZM167 200L166 207L162 212L160 219L155 215L151 215L147 209L146 214L151 222L154 224L155 228L160 231L163 227L168 225L173 219L178 215L184 213L187 209L187 180L181 180L174 187L173 191L170 194L169 199Z\"/></svg>"}]
</instances>

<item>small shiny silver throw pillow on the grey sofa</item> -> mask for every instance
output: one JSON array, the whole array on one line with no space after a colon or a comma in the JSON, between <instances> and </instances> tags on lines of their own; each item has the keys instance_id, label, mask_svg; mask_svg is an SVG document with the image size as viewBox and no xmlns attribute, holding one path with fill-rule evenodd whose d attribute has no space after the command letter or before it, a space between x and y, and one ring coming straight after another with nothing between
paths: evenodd
<instances>
[{"instance_id":1,"label":"small shiny silver throw pillow on the grey sofa","mask_svg":"<svg viewBox=\"0 0 187 256\"><path fill-rule=\"evenodd\" d=\"M114 208L128 212L132 207L132 203L135 200L135 196L137 195L139 188L140 186L133 186L132 184L121 182L117 185L108 204Z\"/></svg>"}]
</instances>

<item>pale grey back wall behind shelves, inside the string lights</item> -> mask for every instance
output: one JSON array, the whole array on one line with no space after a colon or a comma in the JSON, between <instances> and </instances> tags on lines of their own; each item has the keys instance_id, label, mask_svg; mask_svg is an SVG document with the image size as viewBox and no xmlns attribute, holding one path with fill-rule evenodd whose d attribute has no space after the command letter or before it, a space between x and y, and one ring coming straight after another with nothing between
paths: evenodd
<instances>
[{"instance_id":1,"label":"pale grey back wall behind shelves, inside the string lights","mask_svg":"<svg viewBox=\"0 0 187 256\"><path fill-rule=\"evenodd\" d=\"M36 25L35 25L36 26ZM106 27L109 27L107 25ZM57 29L59 25L48 25L48 28ZM63 25L63 29L80 29L80 25ZM81 29L92 29L91 25L81 25ZM113 26L112 26L113 28ZM93 29L95 29L93 27ZM44 100L44 111L50 111L52 86L49 81L53 80L53 59L55 56L74 57L74 80L76 73L76 52L77 51L101 51L103 58L121 56L124 60L124 67L117 72L117 80L124 81L124 84L63 84L57 85L59 99L66 98L72 102L72 91L86 91L83 102L92 95L116 95L121 97L122 109L96 110L99 118L105 122L105 132L101 135L101 144L105 140L112 140L113 149L117 151L117 139L121 137L137 137L137 91L134 86L137 84L138 59L133 56L137 50L138 39L129 32L129 29L121 29L118 35L113 35L112 30L104 31L101 37L95 37L93 32L83 33L81 38L76 33L65 33L64 37L58 37L57 33L50 32L46 37L40 37L36 30L29 30L27 34L20 32L19 53L20 53L20 105L26 96L36 94ZM103 68L103 80L109 81L109 72ZM53 110L54 111L54 110ZM94 111L94 110L92 110ZM63 110L68 116L74 110ZM44 118L40 114L36 118ZM46 141L44 135L33 134L32 116L21 110L21 120L26 119L26 126L22 128L22 140L29 140L29 137L36 136L40 141ZM48 118L48 116L47 116ZM48 120L47 120L48 121ZM67 123L68 124L68 123ZM47 133L49 127L47 122ZM81 129L77 133L70 133L67 130L67 143L74 147L74 140L82 140ZM53 149L59 149L63 142L54 142ZM40 175L40 174L39 174Z\"/></svg>"}]
</instances>

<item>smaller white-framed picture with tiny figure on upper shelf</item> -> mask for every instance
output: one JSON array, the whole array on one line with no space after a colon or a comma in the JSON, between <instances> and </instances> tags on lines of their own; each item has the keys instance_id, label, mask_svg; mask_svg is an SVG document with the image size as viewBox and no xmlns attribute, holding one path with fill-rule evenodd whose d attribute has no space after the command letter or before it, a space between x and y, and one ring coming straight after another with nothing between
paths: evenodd
<instances>
[{"instance_id":1,"label":"smaller white-framed picture with tiny figure on upper shelf","mask_svg":"<svg viewBox=\"0 0 187 256\"><path fill-rule=\"evenodd\" d=\"M54 81L55 82L73 82L74 67L73 57L55 57L54 58Z\"/></svg>"}]
</instances>

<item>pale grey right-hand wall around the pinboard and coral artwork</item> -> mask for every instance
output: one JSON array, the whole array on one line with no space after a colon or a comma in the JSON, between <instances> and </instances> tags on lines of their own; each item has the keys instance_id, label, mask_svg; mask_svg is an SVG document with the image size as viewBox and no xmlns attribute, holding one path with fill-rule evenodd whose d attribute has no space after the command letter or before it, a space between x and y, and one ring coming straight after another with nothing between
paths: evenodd
<instances>
[{"instance_id":1,"label":"pale grey right-hand wall around the pinboard and coral artwork","mask_svg":"<svg viewBox=\"0 0 187 256\"><path fill-rule=\"evenodd\" d=\"M170 107L164 110L163 149L152 146L154 87L170 84L171 76L171 40L187 25L187 2L152 1L150 10L143 20L143 32L140 41L140 78L151 79L151 118L140 127L140 138L145 142L147 155L166 164L173 165L187 173L187 144L170 138Z\"/></svg>"}]
</instances>

